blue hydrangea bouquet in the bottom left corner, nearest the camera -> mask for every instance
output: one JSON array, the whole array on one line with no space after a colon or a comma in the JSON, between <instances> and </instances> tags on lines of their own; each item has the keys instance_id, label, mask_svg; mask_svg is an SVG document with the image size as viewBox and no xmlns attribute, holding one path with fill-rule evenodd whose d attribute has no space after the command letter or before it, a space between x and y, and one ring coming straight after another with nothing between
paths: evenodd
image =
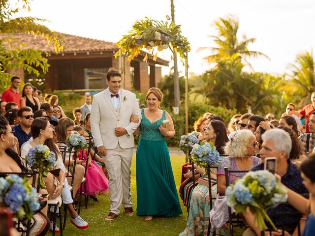
<instances>
[{"instance_id":1,"label":"blue hydrangea bouquet in the bottom left corner, nearest the camera","mask_svg":"<svg viewBox=\"0 0 315 236\"><path fill-rule=\"evenodd\" d=\"M19 220L30 220L33 212L39 209L37 191L26 177L0 178L0 206L9 207Z\"/></svg>"}]
</instances>

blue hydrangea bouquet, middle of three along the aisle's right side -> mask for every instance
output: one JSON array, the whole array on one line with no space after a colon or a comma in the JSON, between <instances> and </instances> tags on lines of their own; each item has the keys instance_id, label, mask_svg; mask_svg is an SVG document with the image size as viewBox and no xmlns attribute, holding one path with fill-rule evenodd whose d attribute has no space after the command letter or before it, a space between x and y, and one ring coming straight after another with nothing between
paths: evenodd
<instances>
[{"instance_id":1,"label":"blue hydrangea bouquet, middle of three along the aisle's right side","mask_svg":"<svg viewBox=\"0 0 315 236\"><path fill-rule=\"evenodd\" d=\"M220 158L220 153L211 142L194 144L190 155L193 163L205 168L206 173L208 173L209 165L216 164Z\"/></svg>"}]
</instances>

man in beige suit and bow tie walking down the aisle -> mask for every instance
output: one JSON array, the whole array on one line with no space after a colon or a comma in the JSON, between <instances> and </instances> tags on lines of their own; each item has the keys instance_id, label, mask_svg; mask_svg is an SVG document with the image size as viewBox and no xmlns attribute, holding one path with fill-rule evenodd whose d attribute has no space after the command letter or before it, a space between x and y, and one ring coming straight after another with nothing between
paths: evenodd
<instances>
[{"instance_id":1,"label":"man in beige suit and bow tie walking down the aisle","mask_svg":"<svg viewBox=\"0 0 315 236\"><path fill-rule=\"evenodd\" d=\"M121 205L126 215L133 215L130 166L133 132L141 122L141 112L135 94L121 88L121 74L114 68L108 71L106 84L106 90L94 95L91 129L95 146L105 160L109 175L110 212L105 219L114 220ZM130 122L132 115L139 117L138 123Z\"/></svg>"}]
</instances>

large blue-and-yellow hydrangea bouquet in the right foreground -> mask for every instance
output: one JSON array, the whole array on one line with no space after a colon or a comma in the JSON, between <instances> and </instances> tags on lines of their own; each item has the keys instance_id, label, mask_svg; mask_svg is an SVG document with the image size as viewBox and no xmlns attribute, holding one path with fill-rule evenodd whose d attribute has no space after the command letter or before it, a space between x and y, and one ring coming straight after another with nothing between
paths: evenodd
<instances>
[{"instance_id":1,"label":"large blue-and-yellow hydrangea bouquet in the right foreground","mask_svg":"<svg viewBox=\"0 0 315 236\"><path fill-rule=\"evenodd\" d=\"M265 220L269 221L273 229L276 226L267 215L266 209L276 207L287 200L286 189L281 186L276 177L269 171L249 172L230 185L225 190L227 204L235 209L236 214L246 213L246 208L256 217L256 226L261 231L267 229Z\"/></svg>"}]
</instances>

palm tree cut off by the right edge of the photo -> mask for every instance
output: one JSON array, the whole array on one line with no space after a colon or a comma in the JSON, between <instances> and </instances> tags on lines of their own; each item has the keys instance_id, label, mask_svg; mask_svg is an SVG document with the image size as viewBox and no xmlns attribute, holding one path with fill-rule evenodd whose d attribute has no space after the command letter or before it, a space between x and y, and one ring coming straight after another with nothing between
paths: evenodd
<instances>
[{"instance_id":1,"label":"palm tree cut off by the right edge of the photo","mask_svg":"<svg viewBox=\"0 0 315 236\"><path fill-rule=\"evenodd\" d=\"M296 56L295 63L290 64L290 93L299 102L299 106L310 103L311 93L315 91L315 70L313 50Z\"/></svg>"}]
</instances>

